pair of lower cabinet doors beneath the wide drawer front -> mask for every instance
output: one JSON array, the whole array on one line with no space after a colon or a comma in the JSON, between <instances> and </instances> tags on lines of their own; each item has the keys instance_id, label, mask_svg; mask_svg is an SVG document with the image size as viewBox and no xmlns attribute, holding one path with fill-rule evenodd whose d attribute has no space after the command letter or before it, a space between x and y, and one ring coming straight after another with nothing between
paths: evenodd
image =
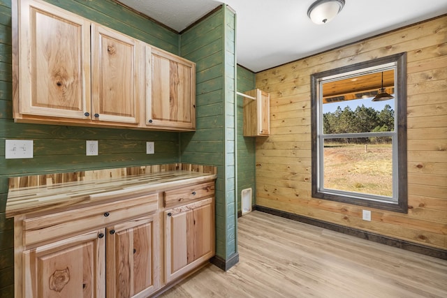
<instances>
[{"instance_id":1,"label":"pair of lower cabinet doors beneath the wide drawer front","mask_svg":"<svg viewBox=\"0 0 447 298\"><path fill-rule=\"evenodd\" d=\"M158 215L23 252L24 297L147 297L159 289Z\"/></svg>"}]
</instances>

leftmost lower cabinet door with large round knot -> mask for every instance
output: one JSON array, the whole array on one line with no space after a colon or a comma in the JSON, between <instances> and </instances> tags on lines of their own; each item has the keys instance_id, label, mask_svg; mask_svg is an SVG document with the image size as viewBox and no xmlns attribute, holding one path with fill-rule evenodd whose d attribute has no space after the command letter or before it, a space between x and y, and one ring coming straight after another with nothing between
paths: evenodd
<instances>
[{"instance_id":1,"label":"leftmost lower cabinet door with large round knot","mask_svg":"<svg viewBox=\"0 0 447 298\"><path fill-rule=\"evenodd\" d=\"M22 253L23 297L105 297L105 230Z\"/></svg>"}]
</instances>

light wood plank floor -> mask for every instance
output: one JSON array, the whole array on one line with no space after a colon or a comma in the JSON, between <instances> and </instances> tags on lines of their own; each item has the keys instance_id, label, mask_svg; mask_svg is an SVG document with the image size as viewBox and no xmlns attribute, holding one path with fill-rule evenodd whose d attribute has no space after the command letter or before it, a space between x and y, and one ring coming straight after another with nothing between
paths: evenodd
<instances>
[{"instance_id":1,"label":"light wood plank floor","mask_svg":"<svg viewBox=\"0 0 447 298\"><path fill-rule=\"evenodd\" d=\"M260 211L237 236L237 265L207 265L160 297L447 297L447 260Z\"/></svg>"}]
</instances>

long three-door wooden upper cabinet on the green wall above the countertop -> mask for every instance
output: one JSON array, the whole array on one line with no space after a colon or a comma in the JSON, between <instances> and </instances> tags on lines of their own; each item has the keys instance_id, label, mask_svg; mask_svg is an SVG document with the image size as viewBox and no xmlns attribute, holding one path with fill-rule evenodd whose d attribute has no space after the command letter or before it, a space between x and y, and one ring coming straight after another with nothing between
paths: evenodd
<instances>
[{"instance_id":1,"label":"long three-door wooden upper cabinet on the green wall above the countertop","mask_svg":"<svg viewBox=\"0 0 447 298\"><path fill-rule=\"evenodd\" d=\"M196 128L193 62L45 1L17 1L13 57L15 121Z\"/></svg>"}]
</instances>

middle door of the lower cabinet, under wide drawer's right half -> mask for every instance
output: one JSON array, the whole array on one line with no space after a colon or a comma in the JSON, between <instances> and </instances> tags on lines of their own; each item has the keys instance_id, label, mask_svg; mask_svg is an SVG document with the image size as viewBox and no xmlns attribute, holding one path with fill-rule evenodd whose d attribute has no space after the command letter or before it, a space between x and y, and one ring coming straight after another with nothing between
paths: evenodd
<instances>
[{"instance_id":1,"label":"middle door of the lower cabinet, under wide drawer's right half","mask_svg":"<svg viewBox=\"0 0 447 298\"><path fill-rule=\"evenodd\" d=\"M107 229L107 297L147 297L159 289L157 216Z\"/></svg>"}]
</instances>

